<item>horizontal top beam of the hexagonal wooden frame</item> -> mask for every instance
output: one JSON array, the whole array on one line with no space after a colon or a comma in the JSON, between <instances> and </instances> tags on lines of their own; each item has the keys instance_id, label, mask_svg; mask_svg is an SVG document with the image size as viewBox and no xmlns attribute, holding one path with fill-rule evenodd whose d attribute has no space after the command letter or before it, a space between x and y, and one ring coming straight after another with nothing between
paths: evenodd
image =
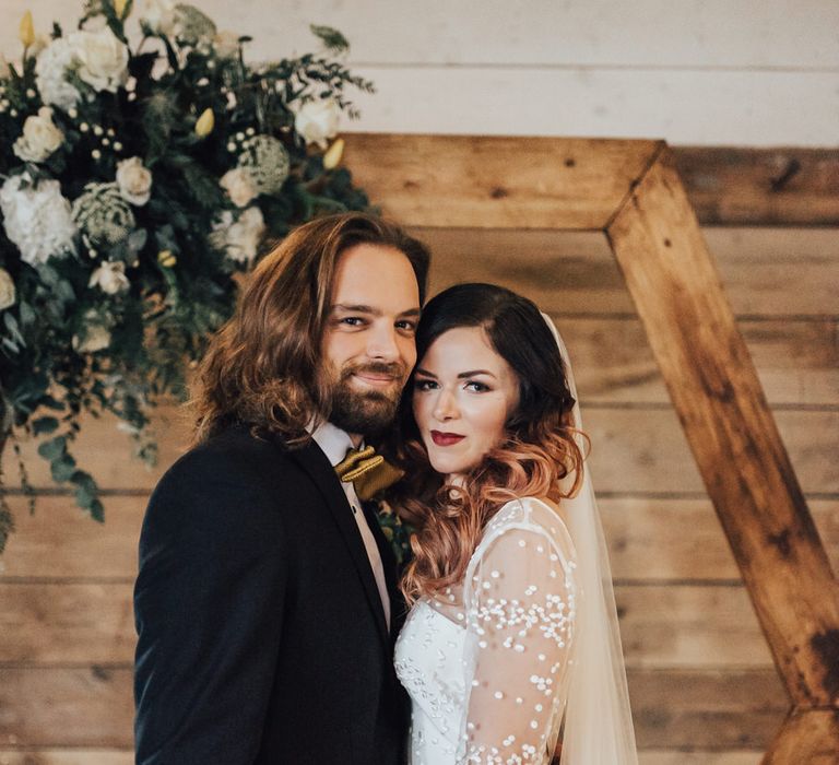
<instances>
[{"instance_id":1,"label":"horizontal top beam of the hexagonal wooden frame","mask_svg":"<svg viewBox=\"0 0 839 765\"><path fill-rule=\"evenodd\" d=\"M600 229L653 141L346 136L345 161L387 215L411 226ZM510 162L516 156L516 162Z\"/></svg>"}]
</instances>

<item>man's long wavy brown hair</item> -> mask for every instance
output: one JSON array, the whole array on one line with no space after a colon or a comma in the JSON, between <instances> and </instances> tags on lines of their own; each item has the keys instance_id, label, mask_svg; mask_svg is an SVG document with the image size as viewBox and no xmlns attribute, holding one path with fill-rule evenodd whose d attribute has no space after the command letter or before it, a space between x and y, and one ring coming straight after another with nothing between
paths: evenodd
<instances>
[{"instance_id":1,"label":"man's long wavy brown hair","mask_svg":"<svg viewBox=\"0 0 839 765\"><path fill-rule=\"evenodd\" d=\"M312 417L328 417L321 339L338 260L363 243L404 252L424 301L428 250L395 224L350 212L299 226L258 263L233 317L210 341L190 402L193 445L245 424L298 446Z\"/></svg>"}]
</instances>

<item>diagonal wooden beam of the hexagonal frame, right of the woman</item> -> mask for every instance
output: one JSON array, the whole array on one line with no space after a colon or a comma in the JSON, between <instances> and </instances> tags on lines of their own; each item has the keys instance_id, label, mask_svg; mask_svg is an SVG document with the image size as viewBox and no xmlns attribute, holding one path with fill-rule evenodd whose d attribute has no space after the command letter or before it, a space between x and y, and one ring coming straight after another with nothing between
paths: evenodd
<instances>
[{"instance_id":1,"label":"diagonal wooden beam of the hexagonal frame, right of the woman","mask_svg":"<svg viewBox=\"0 0 839 765\"><path fill-rule=\"evenodd\" d=\"M669 150L606 234L787 691L839 705L839 588Z\"/></svg>"}]
</instances>

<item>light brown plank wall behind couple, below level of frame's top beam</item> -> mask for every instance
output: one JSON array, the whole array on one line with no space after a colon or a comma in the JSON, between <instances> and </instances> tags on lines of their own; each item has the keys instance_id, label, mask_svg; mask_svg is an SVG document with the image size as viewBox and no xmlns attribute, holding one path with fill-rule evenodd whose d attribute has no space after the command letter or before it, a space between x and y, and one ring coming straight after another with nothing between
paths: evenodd
<instances>
[{"instance_id":1,"label":"light brown plank wall behind couple, below level of frame's top beam","mask_svg":"<svg viewBox=\"0 0 839 765\"><path fill-rule=\"evenodd\" d=\"M465 280L534 298L566 338L592 437L643 765L747 765L787 701L608 248L600 234L417 229L433 289ZM834 565L839 563L839 237L829 228L706 228ZM0 573L0 763L131 762L131 586L147 492L186 423L157 419L161 467L92 421L79 455L107 521L44 495ZM7 482L14 484L11 450ZM23 445L31 480L48 472Z\"/></svg>"}]
</instances>

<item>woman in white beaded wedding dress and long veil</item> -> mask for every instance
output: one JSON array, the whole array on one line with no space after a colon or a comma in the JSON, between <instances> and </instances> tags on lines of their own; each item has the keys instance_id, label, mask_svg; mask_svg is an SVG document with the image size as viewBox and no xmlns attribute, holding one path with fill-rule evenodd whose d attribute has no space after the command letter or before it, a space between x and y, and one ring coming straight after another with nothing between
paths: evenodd
<instances>
[{"instance_id":1,"label":"woman in white beaded wedding dress and long veil","mask_svg":"<svg viewBox=\"0 0 839 765\"><path fill-rule=\"evenodd\" d=\"M393 496L418 528L395 650L411 763L637 763L562 340L530 301L462 284L416 344Z\"/></svg>"}]
</instances>

